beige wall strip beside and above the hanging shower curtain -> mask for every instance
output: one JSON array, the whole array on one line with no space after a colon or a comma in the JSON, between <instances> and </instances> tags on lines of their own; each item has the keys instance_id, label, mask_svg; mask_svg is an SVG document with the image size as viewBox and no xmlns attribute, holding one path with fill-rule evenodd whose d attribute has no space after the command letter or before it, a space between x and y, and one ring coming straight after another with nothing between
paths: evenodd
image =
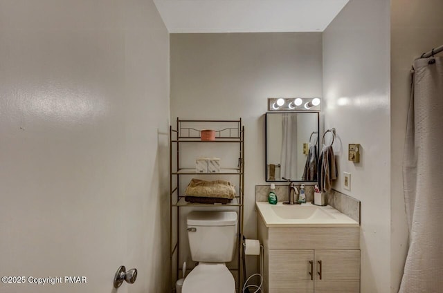
<instances>
[{"instance_id":1,"label":"beige wall strip beside and above the hanging shower curtain","mask_svg":"<svg viewBox=\"0 0 443 293\"><path fill-rule=\"evenodd\" d=\"M408 249L403 196L404 134L415 58L443 45L443 2L391 0L391 292L398 292Z\"/></svg>"}]
</instances>

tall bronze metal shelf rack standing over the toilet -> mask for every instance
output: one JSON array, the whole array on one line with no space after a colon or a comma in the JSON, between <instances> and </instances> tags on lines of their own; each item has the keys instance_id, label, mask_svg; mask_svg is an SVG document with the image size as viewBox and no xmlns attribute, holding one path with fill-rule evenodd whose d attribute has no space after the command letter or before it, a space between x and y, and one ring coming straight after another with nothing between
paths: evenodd
<instances>
[{"instance_id":1,"label":"tall bronze metal shelf rack standing over the toilet","mask_svg":"<svg viewBox=\"0 0 443 293\"><path fill-rule=\"evenodd\" d=\"M204 141L201 140L201 131L198 128L204 127L205 129L219 129L216 130L215 140ZM180 156L183 152L186 152L186 147L180 149L182 143L212 143L212 144L226 144L233 143L238 144L239 153L235 157L239 158L239 167L235 168L222 168L220 172L217 173L198 173L195 168L182 168L180 166ZM189 147L188 147L189 148ZM229 147L230 148L230 147ZM175 156L173 155L172 149L175 149ZM174 166L174 167L173 167ZM189 164L188 164L189 166ZM235 182L238 182L238 194L233 198L233 200L227 204L206 204L206 203L191 203L186 202L183 194L183 185L180 185L181 180L188 180L186 176L235 176ZM182 178L182 179L181 179ZM183 179L184 178L184 179ZM180 265L179 259L181 256L180 242L180 225L181 225L181 211L183 207L214 207L223 208L230 207L238 211L239 223L238 223L238 233L243 235L243 221L244 221L244 126L242 126L242 119L239 120L180 120L177 118L177 128L172 129L170 126L170 261L171 261L171 277L174 278L172 274L172 267L174 262L174 256L177 257L177 262L175 267L177 268L175 278L179 278ZM177 216L174 216L176 213ZM177 220L177 227L174 227L174 223ZM176 236L177 243L172 243L172 239ZM242 242L237 243L237 267L242 268L243 249ZM242 288L244 277L242 270L238 271L238 284L237 286ZM174 280L172 280L174 283Z\"/></svg>"}]
</instances>

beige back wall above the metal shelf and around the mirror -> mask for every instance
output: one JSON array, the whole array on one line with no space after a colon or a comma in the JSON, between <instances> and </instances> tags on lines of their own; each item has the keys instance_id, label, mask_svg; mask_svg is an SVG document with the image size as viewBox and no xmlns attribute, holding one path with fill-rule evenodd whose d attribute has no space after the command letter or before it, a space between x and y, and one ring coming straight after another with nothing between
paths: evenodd
<instances>
[{"instance_id":1,"label":"beige back wall above the metal shelf and around the mirror","mask_svg":"<svg viewBox=\"0 0 443 293\"><path fill-rule=\"evenodd\" d=\"M170 44L171 120L243 118L244 232L255 238L267 97L322 94L321 33L172 34Z\"/></svg>"}]
</instances>

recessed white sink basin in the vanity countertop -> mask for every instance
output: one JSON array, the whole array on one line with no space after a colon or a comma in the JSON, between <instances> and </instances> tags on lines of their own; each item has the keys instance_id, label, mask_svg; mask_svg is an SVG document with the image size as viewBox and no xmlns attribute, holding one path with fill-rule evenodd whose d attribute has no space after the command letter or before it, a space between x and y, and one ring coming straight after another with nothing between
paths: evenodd
<instances>
[{"instance_id":1,"label":"recessed white sink basin in the vanity countertop","mask_svg":"<svg viewBox=\"0 0 443 293\"><path fill-rule=\"evenodd\" d=\"M273 205L271 206L271 209L277 216L284 219L334 218L334 216L327 214L327 211L324 211L315 205Z\"/></svg>"}]
</instances>

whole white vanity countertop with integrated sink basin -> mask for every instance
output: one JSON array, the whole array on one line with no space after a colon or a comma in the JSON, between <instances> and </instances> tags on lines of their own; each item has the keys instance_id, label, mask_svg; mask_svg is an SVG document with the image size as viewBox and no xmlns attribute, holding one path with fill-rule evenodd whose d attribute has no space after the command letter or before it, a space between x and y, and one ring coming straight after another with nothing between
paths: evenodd
<instances>
[{"instance_id":1,"label":"whole white vanity countertop with integrated sink basin","mask_svg":"<svg viewBox=\"0 0 443 293\"><path fill-rule=\"evenodd\" d=\"M358 227L356 220L327 205L319 207L307 202L302 205L271 205L255 202L266 227Z\"/></svg>"}]
</instances>

